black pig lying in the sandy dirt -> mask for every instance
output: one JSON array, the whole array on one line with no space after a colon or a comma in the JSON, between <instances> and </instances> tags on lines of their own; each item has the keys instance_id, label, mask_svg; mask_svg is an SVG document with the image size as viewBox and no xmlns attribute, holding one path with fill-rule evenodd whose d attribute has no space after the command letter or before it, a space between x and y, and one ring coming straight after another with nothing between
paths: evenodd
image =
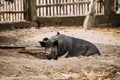
<instances>
[{"instance_id":1,"label":"black pig lying in the sandy dirt","mask_svg":"<svg viewBox=\"0 0 120 80\"><path fill-rule=\"evenodd\" d=\"M60 34L59 32L50 39L44 38L43 41L39 43L42 47L45 47L45 53L48 53L48 59L58 59L59 56L65 53L68 53L66 57L101 55L94 44L82 39Z\"/></svg>"}]
</instances>

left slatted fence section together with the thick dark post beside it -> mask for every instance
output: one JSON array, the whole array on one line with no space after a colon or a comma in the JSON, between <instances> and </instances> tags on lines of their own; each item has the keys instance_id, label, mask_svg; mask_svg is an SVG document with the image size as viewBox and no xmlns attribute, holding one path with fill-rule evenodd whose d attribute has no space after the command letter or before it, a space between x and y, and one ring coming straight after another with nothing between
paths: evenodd
<instances>
[{"instance_id":1,"label":"left slatted fence section together with the thick dark post beside it","mask_svg":"<svg viewBox=\"0 0 120 80\"><path fill-rule=\"evenodd\" d=\"M36 17L35 0L14 0L13 3L0 0L0 23L32 21Z\"/></svg>"}]
</instances>

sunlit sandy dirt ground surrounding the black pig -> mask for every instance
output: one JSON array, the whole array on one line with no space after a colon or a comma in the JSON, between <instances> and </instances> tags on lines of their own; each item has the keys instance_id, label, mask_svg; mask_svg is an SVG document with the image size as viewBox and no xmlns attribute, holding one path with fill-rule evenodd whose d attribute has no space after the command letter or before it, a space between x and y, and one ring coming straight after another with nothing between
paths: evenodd
<instances>
[{"instance_id":1,"label":"sunlit sandy dirt ground surrounding the black pig","mask_svg":"<svg viewBox=\"0 0 120 80\"><path fill-rule=\"evenodd\" d=\"M40 46L38 41L57 32L94 43L101 56L36 58L16 49L0 49L0 80L120 80L120 27L43 27L0 32L0 45Z\"/></svg>"}]
</instances>

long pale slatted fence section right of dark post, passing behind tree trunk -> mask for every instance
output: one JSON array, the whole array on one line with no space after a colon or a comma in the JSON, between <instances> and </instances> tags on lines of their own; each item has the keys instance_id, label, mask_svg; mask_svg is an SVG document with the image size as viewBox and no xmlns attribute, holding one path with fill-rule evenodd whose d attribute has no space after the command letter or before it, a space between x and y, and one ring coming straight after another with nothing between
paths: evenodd
<instances>
[{"instance_id":1,"label":"long pale slatted fence section right of dark post, passing behind tree trunk","mask_svg":"<svg viewBox=\"0 0 120 80\"><path fill-rule=\"evenodd\" d=\"M36 0L38 17L87 15L90 0ZM96 13L103 13L102 4L96 2Z\"/></svg>"}]
</instances>

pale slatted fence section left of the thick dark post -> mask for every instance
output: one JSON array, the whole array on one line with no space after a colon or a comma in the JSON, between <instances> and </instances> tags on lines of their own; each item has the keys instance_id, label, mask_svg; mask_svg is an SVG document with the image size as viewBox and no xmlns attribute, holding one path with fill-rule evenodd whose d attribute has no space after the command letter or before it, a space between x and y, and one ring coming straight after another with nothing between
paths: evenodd
<instances>
[{"instance_id":1,"label":"pale slatted fence section left of the thick dark post","mask_svg":"<svg viewBox=\"0 0 120 80\"><path fill-rule=\"evenodd\" d=\"M25 21L25 0L14 0L13 3L0 0L0 22L19 22Z\"/></svg>"}]
</instances>

